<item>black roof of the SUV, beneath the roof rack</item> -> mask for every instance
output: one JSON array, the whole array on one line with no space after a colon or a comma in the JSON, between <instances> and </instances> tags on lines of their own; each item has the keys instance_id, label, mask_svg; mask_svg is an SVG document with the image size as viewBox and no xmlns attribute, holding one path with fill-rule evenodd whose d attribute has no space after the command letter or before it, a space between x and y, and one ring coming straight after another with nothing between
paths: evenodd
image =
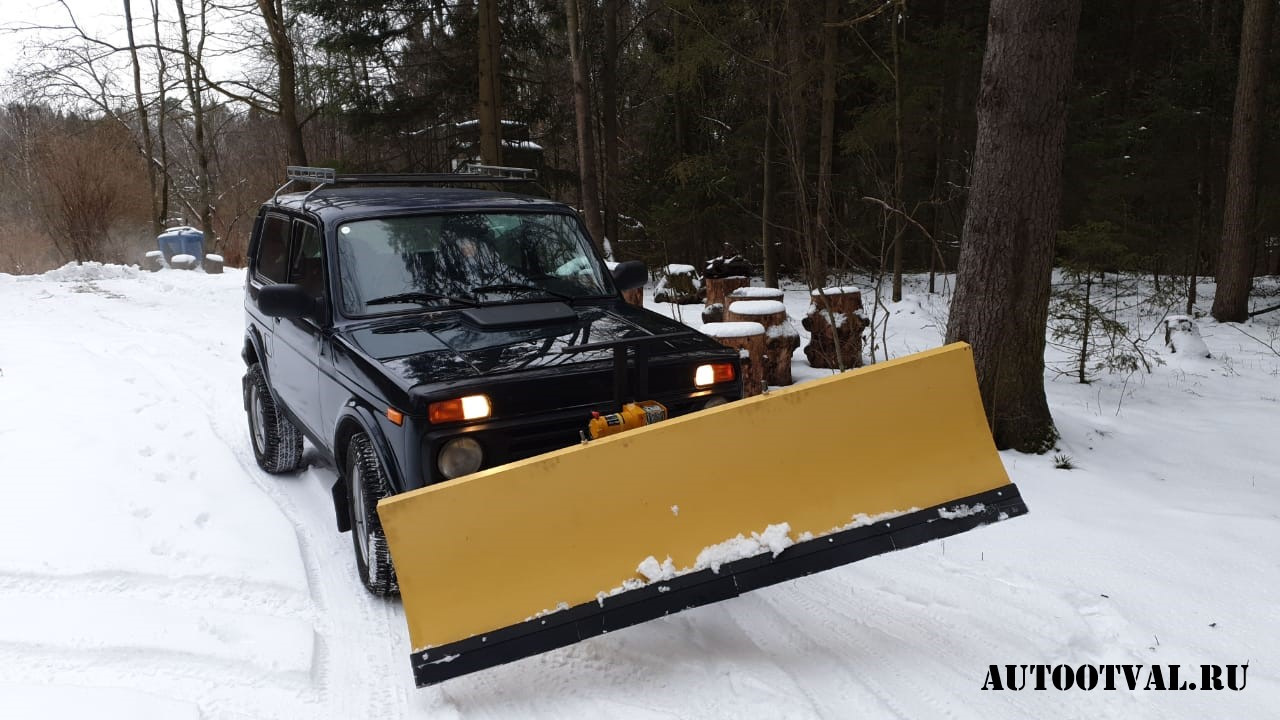
<instances>
[{"instance_id":1,"label":"black roof of the SUV, beneath the roof rack","mask_svg":"<svg viewBox=\"0 0 1280 720\"><path fill-rule=\"evenodd\" d=\"M302 209L306 192L280 195L274 205ZM271 202L269 202L271 204ZM402 215L435 210L544 210L563 211L562 202L513 192L470 187L323 187L306 209L325 220L348 217Z\"/></svg>"}]
</instances>

